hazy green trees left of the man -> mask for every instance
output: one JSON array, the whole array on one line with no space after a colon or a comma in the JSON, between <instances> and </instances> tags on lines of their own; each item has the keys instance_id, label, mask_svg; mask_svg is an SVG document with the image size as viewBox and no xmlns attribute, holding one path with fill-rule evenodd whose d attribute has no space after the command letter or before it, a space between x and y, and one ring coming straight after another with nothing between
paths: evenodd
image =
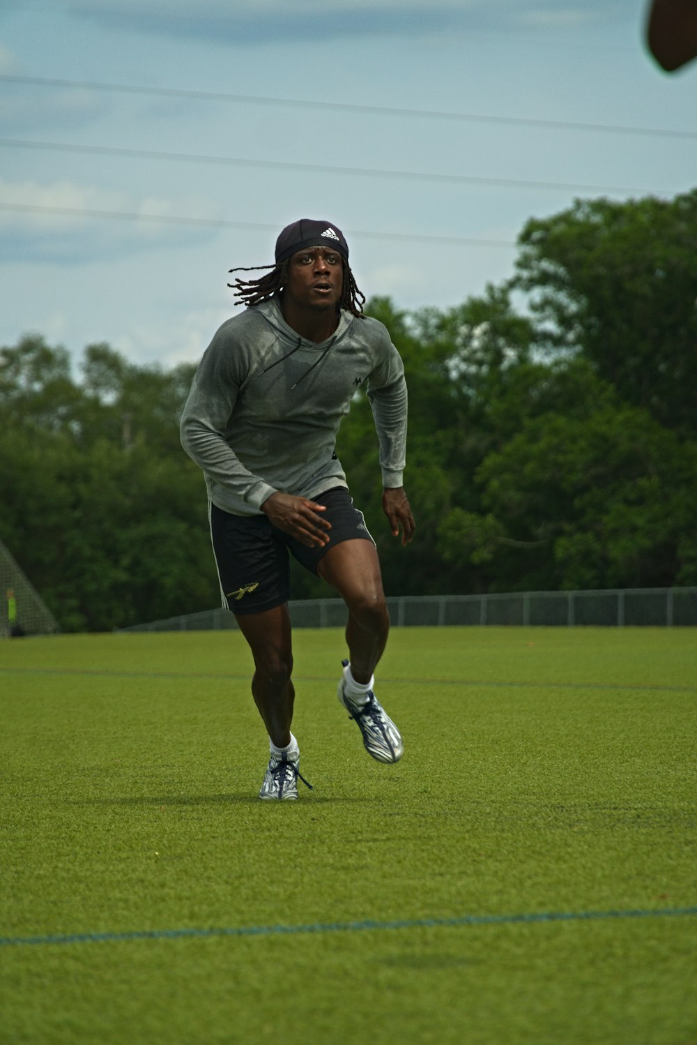
<instances>
[{"instance_id":1,"label":"hazy green trees left of the man","mask_svg":"<svg viewBox=\"0 0 697 1045\"><path fill-rule=\"evenodd\" d=\"M215 605L203 482L178 444L185 368L138 368L109 346L86 355L80 386L42 339L0 353L3 540L64 630Z\"/></svg>"}]
</instances>

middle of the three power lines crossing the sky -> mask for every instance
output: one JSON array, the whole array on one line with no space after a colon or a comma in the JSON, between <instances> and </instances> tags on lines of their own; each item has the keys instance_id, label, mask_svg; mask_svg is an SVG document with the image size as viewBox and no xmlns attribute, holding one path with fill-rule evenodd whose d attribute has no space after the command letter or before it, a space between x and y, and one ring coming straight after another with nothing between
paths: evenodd
<instances>
[{"instance_id":1,"label":"middle of the three power lines crossing the sky","mask_svg":"<svg viewBox=\"0 0 697 1045\"><path fill-rule=\"evenodd\" d=\"M165 153L155 149L121 148L112 145L78 145L68 142L28 141L23 138L0 138L5 148L37 148L89 156L119 156L138 160L167 160L175 163L210 163L237 167L262 167L267 170L310 170L315 173L351 175L360 178L391 178L399 181L438 182L451 185L488 185L497 188L553 189L564 192L636 192L642 195L672 195L659 189L642 189L626 185L580 185L573 182L538 182L521 178L480 178L470 175L439 175L416 170L381 170L372 167L330 166L321 163L291 163L287 160L255 160L234 156L201 156L194 153Z\"/></svg>"}]
</instances>

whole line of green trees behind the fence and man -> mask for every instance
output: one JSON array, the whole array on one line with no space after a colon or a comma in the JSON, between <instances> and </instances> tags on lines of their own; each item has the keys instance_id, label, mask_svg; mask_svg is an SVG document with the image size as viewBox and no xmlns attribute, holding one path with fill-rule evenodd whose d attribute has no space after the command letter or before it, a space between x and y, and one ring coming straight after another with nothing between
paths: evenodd
<instances>
[{"instance_id":1,"label":"whole line of green trees behind the fence and man","mask_svg":"<svg viewBox=\"0 0 697 1045\"><path fill-rule=\"evenodd\" d=\"M358 392L337 452L389 595L697 584L697 190L576 201L519 237L511 279L453 308L366 311L409 386L403 549ZM203 348L202 346L201 348ZM40 335L0 349L0 538L66 631L218 604L194 365ZM293 597L326 596L293 570Z\"/></svg>"}]
</instances>

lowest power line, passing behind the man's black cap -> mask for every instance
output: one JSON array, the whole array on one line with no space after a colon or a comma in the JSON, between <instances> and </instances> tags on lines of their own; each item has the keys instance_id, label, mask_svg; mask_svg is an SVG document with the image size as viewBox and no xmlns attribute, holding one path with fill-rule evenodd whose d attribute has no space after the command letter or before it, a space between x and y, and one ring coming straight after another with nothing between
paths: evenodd
<instances>
[{"instance_id":1,"label":"lowest power line, passing behind the man's black cap","mask_svg":"<svg viewBox=\"0 0 697 1045\"><path fill-rule=\"evenodd\" d=\"M279 231L277 225L260 224L256 222L233 222L227 218L218 217L188 217L174 214L140 214L136 211L122 210L95 210L87 207L49 207L41 204L28 203L3 203L0 200L0 210L19 212L38 212L44 214L58 214L69 217L95 217L110 218L116 220L154 222L167 225L198 225L210 228L225 229L250 229L262 232ZM407 232L365 232L360 229L347 229L346 234L364 239L385 239L391 241L415 241L425 243L443 243L451 247L518 247L518 243L505 239L476 239L471 236L422 236L416 233Z\"/></svg>"}]
</instances>

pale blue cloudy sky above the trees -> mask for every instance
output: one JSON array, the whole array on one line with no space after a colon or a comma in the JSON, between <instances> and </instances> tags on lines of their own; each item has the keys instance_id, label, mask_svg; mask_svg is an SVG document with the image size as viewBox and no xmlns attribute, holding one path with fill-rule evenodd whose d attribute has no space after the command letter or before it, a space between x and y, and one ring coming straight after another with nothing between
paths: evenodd
<instances>
[{"instance_id":1,"label":"pale blue cloudy sky above the trees","mask_svg":"<svg viewBox=\"0 0 697 1045\"><path fill-rule=\"evenodd\" d=\"M638 0L0 0L0 345L195 362L227 270L327 218L447 307L531 216L697 183L697 63Z\"/></svg>"}]
</instances>

